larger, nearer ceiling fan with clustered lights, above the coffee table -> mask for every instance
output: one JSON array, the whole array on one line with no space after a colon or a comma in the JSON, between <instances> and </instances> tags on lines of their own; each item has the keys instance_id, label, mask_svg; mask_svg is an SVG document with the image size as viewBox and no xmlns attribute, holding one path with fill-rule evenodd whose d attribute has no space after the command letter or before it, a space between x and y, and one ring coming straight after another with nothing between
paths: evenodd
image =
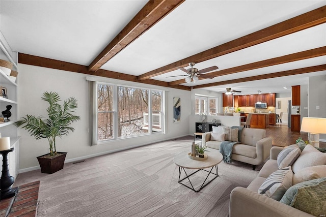
<instances>
[{"instance_id":1,"label":"larger, nearer ceiling fan with clustered lights, above the coffee table","mask_svg":"<svg viewBox=\"0 0 326 217\"><path fill-rule=\"evenodd\" d=\"M219 67L217 67L217 66L211 66L211 67L208 67L206 69L198 70L198 69L194 68L194 66L195 66L195 63L194 62L189 63L189 66L191 67L189 69L184 69L184 68L178 67L178 69L180 69L183 72L187 73L186 75L168 76L167 78L177 77L177 76L187 76L185 78L185 81L187 83L191 83L192 82L192 79L193 79L194 83L196 83L199 80L198 77L202 77L202 78L214 78L215 76L213 76L213 75L205 75L203 73L209 72L209 71L212 71L212 70L219 69Z\"/></svg>"}]
</instances>

